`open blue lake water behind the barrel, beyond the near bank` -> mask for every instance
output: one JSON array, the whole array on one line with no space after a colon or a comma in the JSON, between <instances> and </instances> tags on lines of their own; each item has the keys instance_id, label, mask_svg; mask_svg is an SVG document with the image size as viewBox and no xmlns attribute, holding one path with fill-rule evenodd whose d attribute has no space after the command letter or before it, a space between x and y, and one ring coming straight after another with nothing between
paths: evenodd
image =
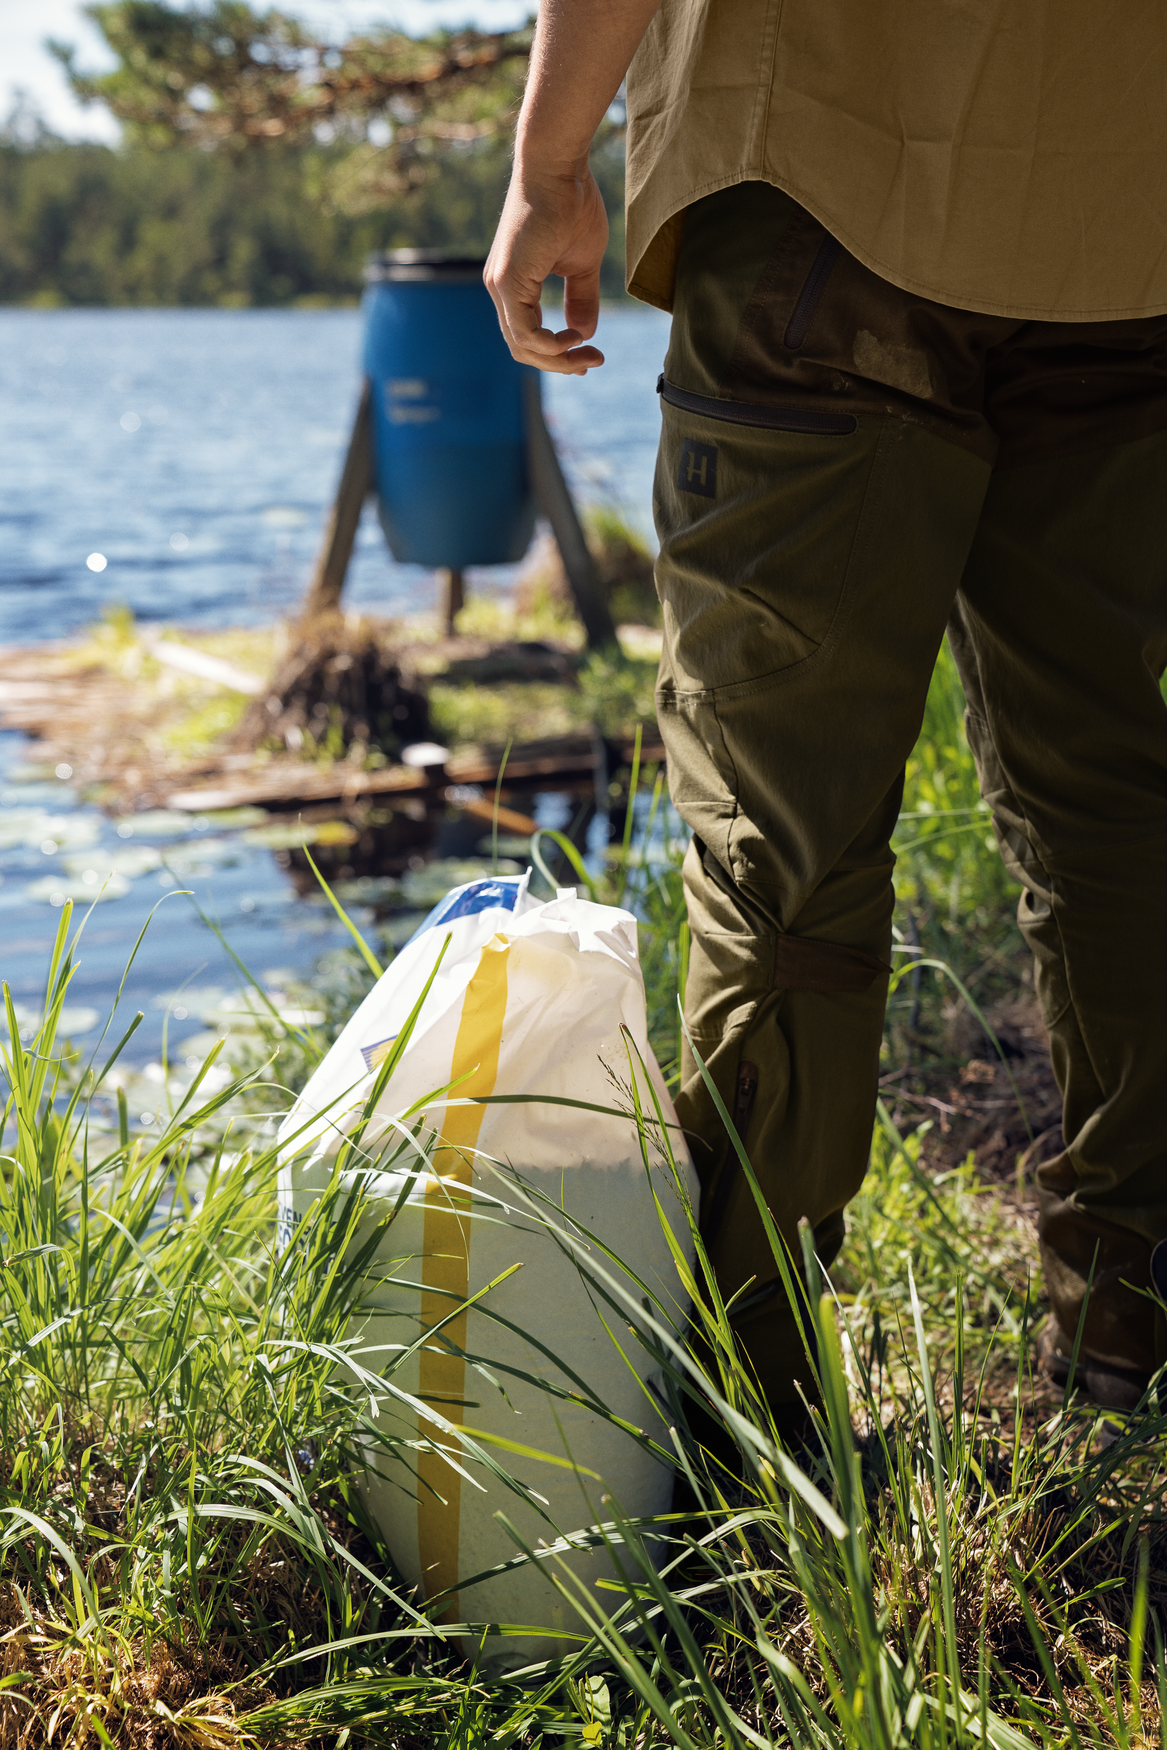
<instances>
[{"instance_id":1,"label":"open blue lake water behind the barrel, beyond the near bank","mask_svg":"<svg viewBox=\"0 0 1167 1750\"><path fill-rule=\"evenodd\" d=\"M668 318L605 312L607 364L544 378L569 478L646 532ZM142 620L275 620L303 593L359 390L357 310L0 310L0 644L107 602ZM86 569L101 553L107 569ZM471 584L474 583L471 572ZM506 584L504 567L479 583ZM418 612L366 509L345 592Z\"/></svg>"}]
</instances>

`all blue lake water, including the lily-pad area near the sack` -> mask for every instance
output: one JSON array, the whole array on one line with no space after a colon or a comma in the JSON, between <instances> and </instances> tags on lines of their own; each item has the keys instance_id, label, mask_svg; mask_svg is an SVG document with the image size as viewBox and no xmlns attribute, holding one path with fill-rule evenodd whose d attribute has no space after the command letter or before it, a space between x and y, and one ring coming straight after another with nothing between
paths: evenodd
<instances>
[{"instance_id":1,"label":"all blue lake water, including the lily-pad area near the sack","mask_svg":"<svg viewBox=\"0 0 1167 1750\"><path fill-rule=\"evenodd\" d=\"M619 504L646 532L667 334L654 312L607 312L607 364L546 378L544 392L577 495ZM359 355L355 310L0 310L0 646L68 637L108 602L187 626L294 609L348 439ZM105 570L86 567L91 553L105 555ZM511 578L497 567L469 583ZM371 511L345 604L378 614L436 606L432 574L392 562ZM537 817L562 824L560 800L542 798ZM159 901L117 1008L121 1026L145 1012L128 1060L157 1057L164 1018L180 1057L184 1040L236 1001L234 966L180 887L269 989L310 975L348 938L324 903L296 894L255 828L254 817L119 828L79 802L68 775L37 765L35 742L0 732L0 976L21 1022L42 1001L61 896L89 898L100 884L86 878L110 868L70 987L66 1031L79 1043L96 1040ZM465 856L462 844L437 850ZM402 905L429 903L416 882Z\"/></svg>"}]
</instances>

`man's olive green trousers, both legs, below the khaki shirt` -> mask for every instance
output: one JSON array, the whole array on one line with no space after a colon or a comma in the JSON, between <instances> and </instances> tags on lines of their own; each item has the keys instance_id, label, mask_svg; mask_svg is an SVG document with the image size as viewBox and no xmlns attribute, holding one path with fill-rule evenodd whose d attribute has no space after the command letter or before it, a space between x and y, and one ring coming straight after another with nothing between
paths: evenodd
<instances>
[{"instance_id":1,"label":"man's olive green trousers, both legs, below the khaki shirt","mask_svg":"<svg viewBox=\"0 0 1167 1750\"><path fill-rule=\"evenodd\" d=\"M789 196L686 214L656 474L658 718L693 830L686 1018L798 1256L871 1141L889 838L948 628L1064 1096L1038 1174L1073 1340L1151 1370L1167 1234L1167 317L1018 322L903 292ZM772 1404L805 1381L724 1125L677 1102ZM1162 1356L1160 1356L1162 1360Z\"/></svg>"}]
</instances>

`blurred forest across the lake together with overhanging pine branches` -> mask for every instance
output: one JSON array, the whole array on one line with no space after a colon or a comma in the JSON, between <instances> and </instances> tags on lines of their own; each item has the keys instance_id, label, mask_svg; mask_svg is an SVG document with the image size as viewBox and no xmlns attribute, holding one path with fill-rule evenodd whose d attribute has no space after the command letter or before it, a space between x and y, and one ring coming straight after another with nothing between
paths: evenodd
<instances>
[{"instance_id":1,"label":"blurred forest across the lake together with overhanging pine branches","mask_svg":"<svg viewBox=\"0 0 1167 1750\"><path fill-rule=\"evenodd\" d=\"M122 142L58 138L28 107L0 126L0 303L329 304L378 248L485 254L511 164L530 24L320 40L238 0L86 7L117 56L75 94ZM623 117L593 170L623 296Z\"/></svg>"}]
</instances>

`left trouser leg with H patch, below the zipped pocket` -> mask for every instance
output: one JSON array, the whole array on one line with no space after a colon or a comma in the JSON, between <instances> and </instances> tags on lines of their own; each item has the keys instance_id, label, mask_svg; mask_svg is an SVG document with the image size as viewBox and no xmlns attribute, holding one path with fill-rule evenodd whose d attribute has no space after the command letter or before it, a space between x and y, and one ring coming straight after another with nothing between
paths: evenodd
<instances>
[{"instance_id":1,"label":"left trouser leg with H patch, below the zipped pocket","mask_svg":"<svg viewBox=\"0 0 1167 1750\"><path fill-rule=\"evenodd\" d=\"M679 483L686 455L709 452L714 497ZM696 835L686 1015L794 1256L807 1218L829 1260L866 1171L889 836L987 480L896 418L814 438L665 408L658 718ZM717 1213L721 1288L751 1284L749 1302L777 1267L744 1178L726 1183L726 1132L691 1059L677 1111ZM789 1402L801 1346L784 1297L754 1298L737 1328L770 1402Z\"/></svg>"}]
</instances>

